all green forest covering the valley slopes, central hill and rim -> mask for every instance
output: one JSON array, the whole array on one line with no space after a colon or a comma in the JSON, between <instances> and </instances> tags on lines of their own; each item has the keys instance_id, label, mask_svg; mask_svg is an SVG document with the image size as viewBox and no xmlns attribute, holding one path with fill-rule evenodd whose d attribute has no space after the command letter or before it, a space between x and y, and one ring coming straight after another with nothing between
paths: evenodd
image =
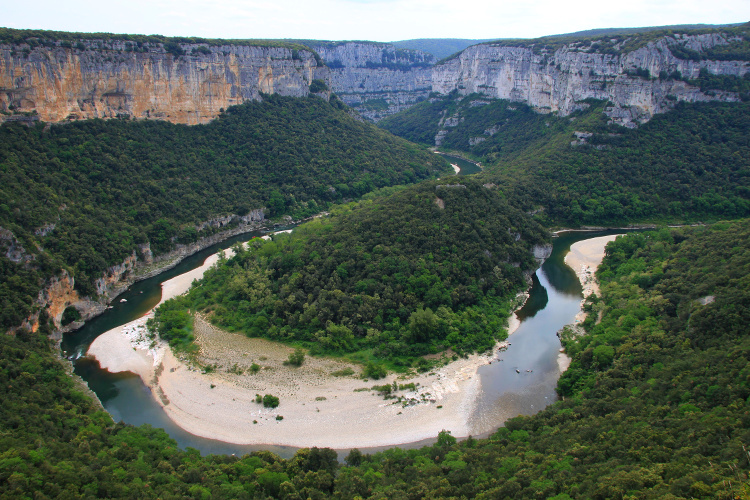
<instances>
[{"instance_id":1,"label":"all green forest covering the valley slopes, central hill and rim","mask_svg":"<svg viewBox=\"0 0 750 500\"><path fill-rule=\"evenodd\" d=\"M710 56L747 60L748 25L730 32ZM0 42L88 50L80 34L55 35L0 29ZM592 33L578 48L617 54L663 35ZM181 43L225 43L96 36L175 55ZM62 269L93 294L137 245L169 251L216 231L203 224L213 217L328 210L291 235L236 246L152 325L190 349L197 310L228 330L348 356L377 378L502 338L544 228L709 224L610 243L588 318L560 332L572 358L560 401L485 439L442 432L432 446L352 450L344 463L317 448L202 457L160 429L114 423L55 354L42 311L37 332L0 335L0 498L750 498L750 77L690 83L744 102L676 103L627 129L607 123L605 102L558 117L454 93L380 122L403 139L335 97L264 96L193 127L1 126L3 329ZM449 117L441 147L485 172L428 180L450 171L425 150Z\"/></svg>"}]
</instances>

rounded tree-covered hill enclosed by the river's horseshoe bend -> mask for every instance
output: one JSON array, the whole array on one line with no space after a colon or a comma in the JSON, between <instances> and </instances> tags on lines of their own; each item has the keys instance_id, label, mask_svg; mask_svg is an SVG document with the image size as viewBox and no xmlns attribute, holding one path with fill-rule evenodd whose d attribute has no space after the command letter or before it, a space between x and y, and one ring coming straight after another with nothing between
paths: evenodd
<instances>
[{"instance_id":1,"label":"rounded tree-covered hill enclosed by the river's horseshoe bend","mask_svg":"<svg viewBox=\"0 0 750 500\"><path fill-rule=\"evenodd\" d=\"M235 247L163 306L156 326L173 345L185 341L181 307L248 336L397 367L484 351L505 337L512 299L538 265L532 247L547 239L492 187L425 181Z\"/></svg>"}]
</instances>

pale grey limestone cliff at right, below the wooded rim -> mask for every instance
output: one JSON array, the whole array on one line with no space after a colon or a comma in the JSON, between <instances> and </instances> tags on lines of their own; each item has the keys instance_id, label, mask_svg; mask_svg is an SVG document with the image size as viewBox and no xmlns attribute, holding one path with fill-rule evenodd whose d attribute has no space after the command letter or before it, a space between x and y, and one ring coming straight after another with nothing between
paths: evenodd
<instances>
[{"instance_id":1,"label":"pale grey limestone cliff at right, below the wooded rim","mask_svg":"<svg viewBox=\"0 0 750 500\"><path fill-rule=\"evenodd\" d=\"M633 126L678 101L739 100L732 92L701 92L684 79L697 78L701 69L742 77L750 69L747 61L680 59L671 50L681 47L700 53L734 41L735 37L720 33L673 35L629 52L624 50L628 40L622 40L606 53L597 52L590 41L555 50L475 45L433 68L432 89L524 102L562 116L585 106L586 99L605 100L612 103L606 112L614 122Z\"/></svg>"}]
</instances>

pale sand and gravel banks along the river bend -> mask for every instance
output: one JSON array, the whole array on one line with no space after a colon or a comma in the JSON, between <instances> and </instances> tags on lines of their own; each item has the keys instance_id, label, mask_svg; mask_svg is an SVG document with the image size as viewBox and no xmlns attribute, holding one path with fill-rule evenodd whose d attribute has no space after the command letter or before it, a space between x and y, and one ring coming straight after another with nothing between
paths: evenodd
<instances>
[{"instance_id":1,"label":"pale sand and gravel banks along the river bend","mask_svg":"<svg viewBox=\"0 0 750 500\"><path fill-rule=\"evenodd\" d=\"M571 249L573 260L568 263L581 271L582 282L592 279L588 272L601 262L607 241L586 240ZM162 302L184 293L216 258L209 257L202 267L165 282ZM197 317L198 359L211 367L204 373L178 359L166 344L150 345L147 318L99 336L88 354L111 372L138 374L167 415L186 431L237 444L346 449L410 443L434 438L441 430L468 436L472 434L469 416L481 391L477 369L493 361L497 352L458 359L408 379L391 374L365 381L358 378L357 365L335 358L307 356L301 367L284 365L292 348L225 332ZM517 326L513 316L509 331ZM255 373L253 364L260 367ZM332 374L346 368L353 374ZM416 388L396 391L400 399L384 399L371 389L394 381L414 383ZM277 396L280 405L264 408L255 402L256 394Z\"/></svg>"}]
</instances>

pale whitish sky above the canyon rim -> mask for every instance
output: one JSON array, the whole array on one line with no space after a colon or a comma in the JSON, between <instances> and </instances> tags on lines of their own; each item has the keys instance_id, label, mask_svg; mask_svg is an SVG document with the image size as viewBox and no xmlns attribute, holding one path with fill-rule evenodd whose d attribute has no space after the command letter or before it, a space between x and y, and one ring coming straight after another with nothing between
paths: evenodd
<instances>
[{"instance_id":1,"label":"pale whitish sky above the canyon rim","mask_svg":"<svg viewBox=\"0 0 750 500\"><path fill-rule=\"evenodd\" d=\"M750 0L0 0L0 26L205 38L535 38L750 21Z\"/></svg>"}]
</instances>

